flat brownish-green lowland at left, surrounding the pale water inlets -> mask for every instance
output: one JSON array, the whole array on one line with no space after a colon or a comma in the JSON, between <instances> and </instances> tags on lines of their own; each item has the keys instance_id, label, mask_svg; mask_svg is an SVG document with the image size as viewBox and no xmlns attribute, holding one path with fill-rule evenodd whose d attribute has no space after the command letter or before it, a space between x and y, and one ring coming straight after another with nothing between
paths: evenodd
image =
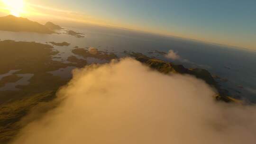
<instances>
[{"instance_id":1,"label":"flat brownish-green lowland at left, surrounding the pale water inlets","mask_svg":"<svg viewBox=\"0 0 256 144\"><path fill-rule=\"evenodd\" d=\"M51 45L35 42L15 42L11 40L0 41L0 74L10 70L20 70L18 73L33 73L28 85L18 85L16 91L0 91L0 104L9 100L23 98L46 90L57 90L68 80L63 80L59 76L53 76L51 71L56 71L67 66L75 66L73 63L61 63L53 61L51 57L58 54ZM2 83L7 81L17 81L16 76L2 79Z\"/></svg>"}]
</instances>

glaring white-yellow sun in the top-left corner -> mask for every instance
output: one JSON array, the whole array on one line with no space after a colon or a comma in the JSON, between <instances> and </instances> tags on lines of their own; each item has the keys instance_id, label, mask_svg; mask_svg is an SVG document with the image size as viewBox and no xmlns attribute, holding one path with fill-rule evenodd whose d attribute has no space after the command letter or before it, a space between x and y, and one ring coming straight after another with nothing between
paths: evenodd
<instances>
[{"instance_id":1,"label":"glaring white-yellow sun in the top-left corner","mask_svg":"<svg viewBox=\"0 0 256 144\"><path fill-rule=\"evenodd\" d=\"M23 0L2 0L9 14L16 17L20 17L24 13L24 1Z\"/></svg>"}]
</instances>

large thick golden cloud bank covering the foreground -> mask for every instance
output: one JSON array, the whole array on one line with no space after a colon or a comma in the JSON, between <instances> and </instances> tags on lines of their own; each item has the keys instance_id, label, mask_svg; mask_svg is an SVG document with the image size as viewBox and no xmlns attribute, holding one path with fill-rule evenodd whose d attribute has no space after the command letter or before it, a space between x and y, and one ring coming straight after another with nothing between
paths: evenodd
<instances>
[{"instance_id":1,"label":"large thick golden cloud bank covering the foreground","mask_svg":"<svg viewBox=\"0 0 256 144\"><path fill-rule=\"evenodd\" d=\"M256 108L213 100L188 75L133 59L73 71L62 103L11 144L255 144Z\"/></svg>"}]
</instances>

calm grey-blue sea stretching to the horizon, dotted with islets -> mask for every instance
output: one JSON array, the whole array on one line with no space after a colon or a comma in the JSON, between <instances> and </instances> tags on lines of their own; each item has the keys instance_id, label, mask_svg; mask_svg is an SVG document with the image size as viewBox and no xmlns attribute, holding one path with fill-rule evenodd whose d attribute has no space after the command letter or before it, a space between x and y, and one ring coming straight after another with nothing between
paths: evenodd
<instances>
[{"instance_id":1,"label":"calm grey-blue sea stretching to the horizon, dotted with islets","mask_svg":"<svg viewBox=\"0 0 256 144\"><path fill-rule=\"evenodd\" d=\"M70 46L55 46L60 53L55 59L66 62L66 58L70 55L74 46L79 47L95 47L99 50L108 50L119 56L123 56L121 52L124 50L140 52L148 56L155 56L165 61L180 63L186 67L201 67L209 70L212 74L216 74L228 81L219 81L220 85L229 90L230 94L235 97L243 97L256 102L256 52L246 49L238 49L234 47L206 44L191 40L157 36L133 32L123 29L111 29L104 27L82 27L69 28L74 31L84 33L84 38L76 38L66 34L44 35L25 32L5 32L0 31L1 40L15 41L35 41L39 43L46 42L68 42ZM182 59L187 61L173 61L158 54L148 54L149 51L158 50L168 52L170 49L178 52ZM97 59L88 59L90 63L94 61L100 63ZM188 63L189 61L189 63ZM67 71L71 71L67 68ZM55 75L58 71L52 72ZM65 77L65 72L60 71L60 75ZM69 77L69 76L67 76Z\"/></svg>"}]
</instances>

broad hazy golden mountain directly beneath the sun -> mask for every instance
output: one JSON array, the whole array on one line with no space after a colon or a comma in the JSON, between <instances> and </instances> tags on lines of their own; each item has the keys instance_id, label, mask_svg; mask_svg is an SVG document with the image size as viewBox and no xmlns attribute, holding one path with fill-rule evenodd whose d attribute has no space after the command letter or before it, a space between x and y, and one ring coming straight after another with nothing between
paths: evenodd
<instances>
[{"instance_id":1,"label":"broad hazy golden mountain directly beneath the sun","mask_svg":"<svg viewBox=\"0 0 256 144\"><path fill-rule=\"evenodd\" d=\"M35 32L53 34L54 30L27 18L18 18L12 15L0 17L0 30L13 32Z\"/></svg>"}]
</instances>

